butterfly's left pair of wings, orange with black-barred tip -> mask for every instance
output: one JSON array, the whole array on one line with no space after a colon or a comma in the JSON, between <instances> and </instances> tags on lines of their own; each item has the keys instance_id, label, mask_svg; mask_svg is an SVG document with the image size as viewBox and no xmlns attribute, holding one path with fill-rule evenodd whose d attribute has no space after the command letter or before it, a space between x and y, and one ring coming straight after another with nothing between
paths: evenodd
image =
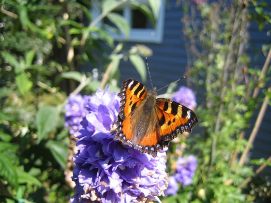
<instances>
[{"instance_id":1,"label":"butterfly's left pair of wings, orange with black-barred tip","mask_svg":"<svg viewBox=\"0 0 271 203\"><path fill-rule=\"evenodd\" d=\"M120 93L120 113L117 119L117 134L114 140L120 140L124 145L133 145L134 128L131 117L135 109L144 102L148 96L147 88L134 79L122 83Z\"/></svg>"}]
</instances>

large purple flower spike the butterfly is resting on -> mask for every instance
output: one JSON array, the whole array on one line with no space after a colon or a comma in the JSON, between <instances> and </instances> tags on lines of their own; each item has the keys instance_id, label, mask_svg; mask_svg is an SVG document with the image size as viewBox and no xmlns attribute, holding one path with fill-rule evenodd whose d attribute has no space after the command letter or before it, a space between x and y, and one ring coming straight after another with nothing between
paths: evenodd
<instances>
[{"instance_id":1,"label":"large purple flower spike the butterfly is resting on","mask_svg":"<svg viewBox=\"0 0 271 203\"><path fill-rule=\"evenodd\" d=\"M78 153L72 203L158 201L167 187L166 149L155 158L114 141L111 132L120 109L117 94L98 90L85 104L88 113L75 133Z\"/></svg>"}]
</instances>

